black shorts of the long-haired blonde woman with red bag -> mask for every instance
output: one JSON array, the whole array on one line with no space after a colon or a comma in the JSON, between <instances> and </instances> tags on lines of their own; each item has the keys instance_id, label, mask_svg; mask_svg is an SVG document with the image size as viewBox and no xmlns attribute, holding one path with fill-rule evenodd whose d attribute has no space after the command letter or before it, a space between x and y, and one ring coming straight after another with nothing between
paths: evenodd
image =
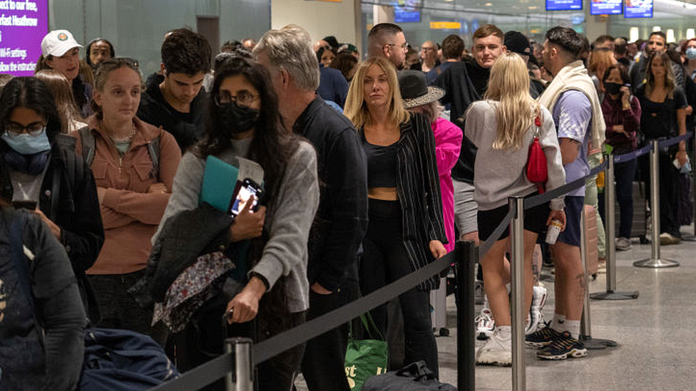
<instances>
[{"instance_id":1,"label":"black shorts of the long-haired blonde woman with red bag","mask_svg":"<svg viewBox=\"0 0 696 391\"><path fill-rule=\"evenodd\" d=\"M537 193L528 195L525 198L536 196ZM548 202L527 209L524 211L524 229L526 231L531 231L536 234L541 233L546 229L546 220L548 220L548 214L551 213L551 209L548 206ZM488 239L493 231L496 230L499 224L505 219L506 214L508 214L509 206L503 205L502 207L497 207L496 209L490 210L479 210L478 211L478 239L485 241ZM510 236L510 226L505 227L505 231L498 240L505 239Z\"/></svg>"}]
</instances>

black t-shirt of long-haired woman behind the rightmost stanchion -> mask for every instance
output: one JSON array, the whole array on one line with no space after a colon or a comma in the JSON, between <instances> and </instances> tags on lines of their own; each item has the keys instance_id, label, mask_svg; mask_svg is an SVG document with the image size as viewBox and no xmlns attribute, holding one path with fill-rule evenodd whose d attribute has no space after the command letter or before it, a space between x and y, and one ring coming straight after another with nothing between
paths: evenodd
<instances>
[{"instance_id":1,"label":"black t-shirt of long-haired woman behind the rightmost stanchion","mask_svg":"<svg viewBox=\"0 0 696 391\"><path fill-rule=\"evenodd\" d=\"M645 96L645 85L641 85L635 95L640 100L640 132L645 140L679 134L677 109L687 106L686 95L682 88L675 88L672 98L667 96L664 102L653 102L648 99Z\"/></svg>"}]
</instances>

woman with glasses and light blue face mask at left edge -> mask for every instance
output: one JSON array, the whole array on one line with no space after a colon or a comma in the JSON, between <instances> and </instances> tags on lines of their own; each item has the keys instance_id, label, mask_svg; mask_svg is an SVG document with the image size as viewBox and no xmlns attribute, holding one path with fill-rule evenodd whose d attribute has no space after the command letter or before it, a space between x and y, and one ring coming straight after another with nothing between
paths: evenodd
<instances>
[{"instance_id":1,"label":"woman with glasses and light blue face mask at left edge","mask_svg":"<svg viewBox=\"0 0 696 391\"><path fill-rule=\"evenodd\" d=\"M51 92L36 78L14 78L0 95L0 196L29 209L65 247L90 320L99 320L85 276L104 241L92 172L63 142Z\"/></svg>"}]
</instances>

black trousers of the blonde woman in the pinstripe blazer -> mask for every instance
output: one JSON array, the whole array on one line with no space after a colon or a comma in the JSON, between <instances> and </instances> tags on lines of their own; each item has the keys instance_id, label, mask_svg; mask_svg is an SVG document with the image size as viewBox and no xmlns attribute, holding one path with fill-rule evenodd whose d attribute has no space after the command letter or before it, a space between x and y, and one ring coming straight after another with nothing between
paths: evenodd
<instances>
[{"instance_id":1,"label":"black trousers of the blonde woman in the pinstripe blazer","mask_svg":"<svg viewBox=\"0 0 696 391\"><path fill-rule=\"evenodd\" d=\"M399 202L369 200L369 225L360 262L360 289L369 294L411 273L411 264L401 236ZM406 364L424 360L438 375L437 344L430 319L429 291L416 288L399 296L404 316L404 360ZM387 333L387 306L370 311L374 323Z\"/></svg>"}]
</instances>

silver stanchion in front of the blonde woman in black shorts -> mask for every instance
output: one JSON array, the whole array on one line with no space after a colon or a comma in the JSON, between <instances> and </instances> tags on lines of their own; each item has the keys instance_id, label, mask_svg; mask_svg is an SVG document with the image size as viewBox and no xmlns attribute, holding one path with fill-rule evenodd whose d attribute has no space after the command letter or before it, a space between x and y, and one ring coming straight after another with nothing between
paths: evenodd
<instances>
[{"instance_id":1,"label":"silver stanchion in front of the blonde woman in black shorts","mask_svg":"<svg viewBox=\"0 0 696 391\"><path fill-rule=\"evenodd\" d=\"M524 363L524 325L529 308L524 308L524 199L510 197L510 209L516 211L510 222L512 277L512 385L513 391L526 390Z\"/></svg>"}]
</instances>

